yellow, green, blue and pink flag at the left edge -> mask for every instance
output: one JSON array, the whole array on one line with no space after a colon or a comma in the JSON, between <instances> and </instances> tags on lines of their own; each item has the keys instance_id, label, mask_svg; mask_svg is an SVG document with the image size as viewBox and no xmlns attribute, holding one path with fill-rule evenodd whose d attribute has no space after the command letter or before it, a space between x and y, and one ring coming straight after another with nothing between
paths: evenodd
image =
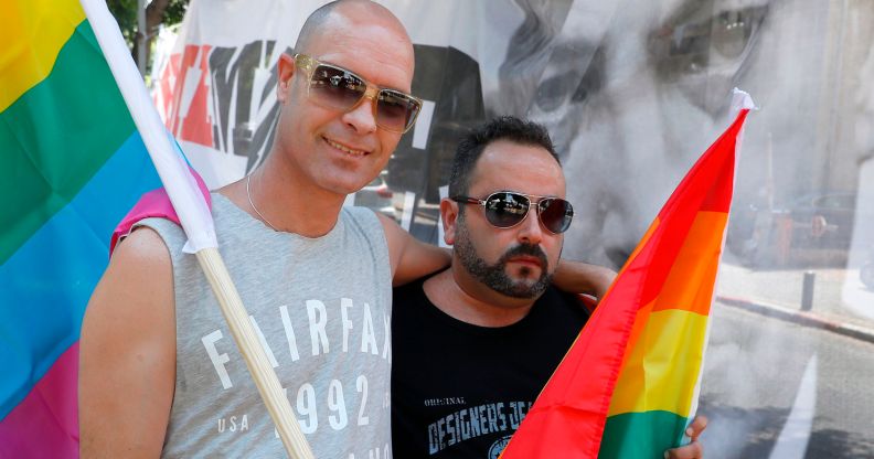
<instances>
[{"instance_id":1,"label":"yellow, green, blue and pink flag at the left edge","mask_svg":"<svg viewBox=\"0 0 874 459\"><path fill-rule=\"evenodd\" d=\"M0 457L77 457L82 317L160 181L77 1L4 1L0 43Z\"/></svg>"}]
</instances>

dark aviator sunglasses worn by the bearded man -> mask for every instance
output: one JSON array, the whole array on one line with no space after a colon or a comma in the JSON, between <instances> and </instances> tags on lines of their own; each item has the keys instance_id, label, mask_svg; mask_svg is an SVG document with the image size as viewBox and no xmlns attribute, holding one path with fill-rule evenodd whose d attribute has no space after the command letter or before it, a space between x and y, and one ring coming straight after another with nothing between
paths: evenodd
<instances>
[{"instance_id":1,"label":"dark aviator sunglasses worn by the bearded man","mask_svg":"<svg viewBox=\"0 0 874 459\"><path fill-rule=\"evenodd\" d=\"M571 221L574 220L574 207L561 198L499 191L489 194L484 200L470 196L452 196L451 200L459 204L482 205L486 220L499 228L511 228L522 223L532 204L536 204L537 217L550 233L564 233L571 226Z\"/></svg>"}]
</instances>

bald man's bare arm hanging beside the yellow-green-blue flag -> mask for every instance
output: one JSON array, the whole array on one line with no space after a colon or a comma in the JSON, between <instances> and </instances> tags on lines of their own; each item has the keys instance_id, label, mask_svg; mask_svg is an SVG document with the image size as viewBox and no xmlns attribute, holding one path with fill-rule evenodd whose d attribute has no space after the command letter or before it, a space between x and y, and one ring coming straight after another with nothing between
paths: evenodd
<instances>
[{"instance_id":1,"label":"bald man's bare arm hanging beside the yellow-green-blue flag","mask_svg":"<svg viewBox=\"0 0 874 459\"><path fill-rule=\"evenodd\" d=\"M79 450L159 457L175 384L170 254L151 230L116 247L92 295L79 341Z\"/></svg>"}]
</instances>

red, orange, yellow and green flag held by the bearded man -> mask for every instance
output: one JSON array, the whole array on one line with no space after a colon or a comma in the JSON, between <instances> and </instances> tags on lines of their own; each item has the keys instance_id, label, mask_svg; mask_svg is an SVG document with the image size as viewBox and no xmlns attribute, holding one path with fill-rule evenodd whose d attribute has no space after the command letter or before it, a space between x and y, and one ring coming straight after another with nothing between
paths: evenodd
<instances>
[{"instance_id":1,"label":"red, orange, yellow and green flag held by the bearded man","mask_svg":"<svg viewBox=\"0 0 874 459\"><path fill-rule=\"evenodd\" d=\"M743 94L743 93L740 93ZM501 456L662 458L694 416L752 100L699 159L620 270Z\"/></svg>"}]
</instances>

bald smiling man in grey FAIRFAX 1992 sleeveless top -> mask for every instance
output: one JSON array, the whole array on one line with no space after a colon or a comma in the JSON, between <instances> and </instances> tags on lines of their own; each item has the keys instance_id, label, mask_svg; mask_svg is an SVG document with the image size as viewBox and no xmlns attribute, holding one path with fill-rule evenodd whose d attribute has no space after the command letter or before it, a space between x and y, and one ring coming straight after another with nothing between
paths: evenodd
<instances>
[{"instance_id":1,"label":"bald smiling man in grey FAIRFAX 1992 sleeveless top","mask_svg":"<svg viewBox=\"0 0 874 459\"><path fill-rule=\"evenodd\" d=\"M316 457L382 458L392 284L449 257L342 205L416 118L413 45L385 8L342 1L307 20L295 51L278 66L273 150L212 194L220 250ZM184 242L169 221L141 221L92 297L81 342L83 456L284 455Z\"/></svg>"}]
</instances>

